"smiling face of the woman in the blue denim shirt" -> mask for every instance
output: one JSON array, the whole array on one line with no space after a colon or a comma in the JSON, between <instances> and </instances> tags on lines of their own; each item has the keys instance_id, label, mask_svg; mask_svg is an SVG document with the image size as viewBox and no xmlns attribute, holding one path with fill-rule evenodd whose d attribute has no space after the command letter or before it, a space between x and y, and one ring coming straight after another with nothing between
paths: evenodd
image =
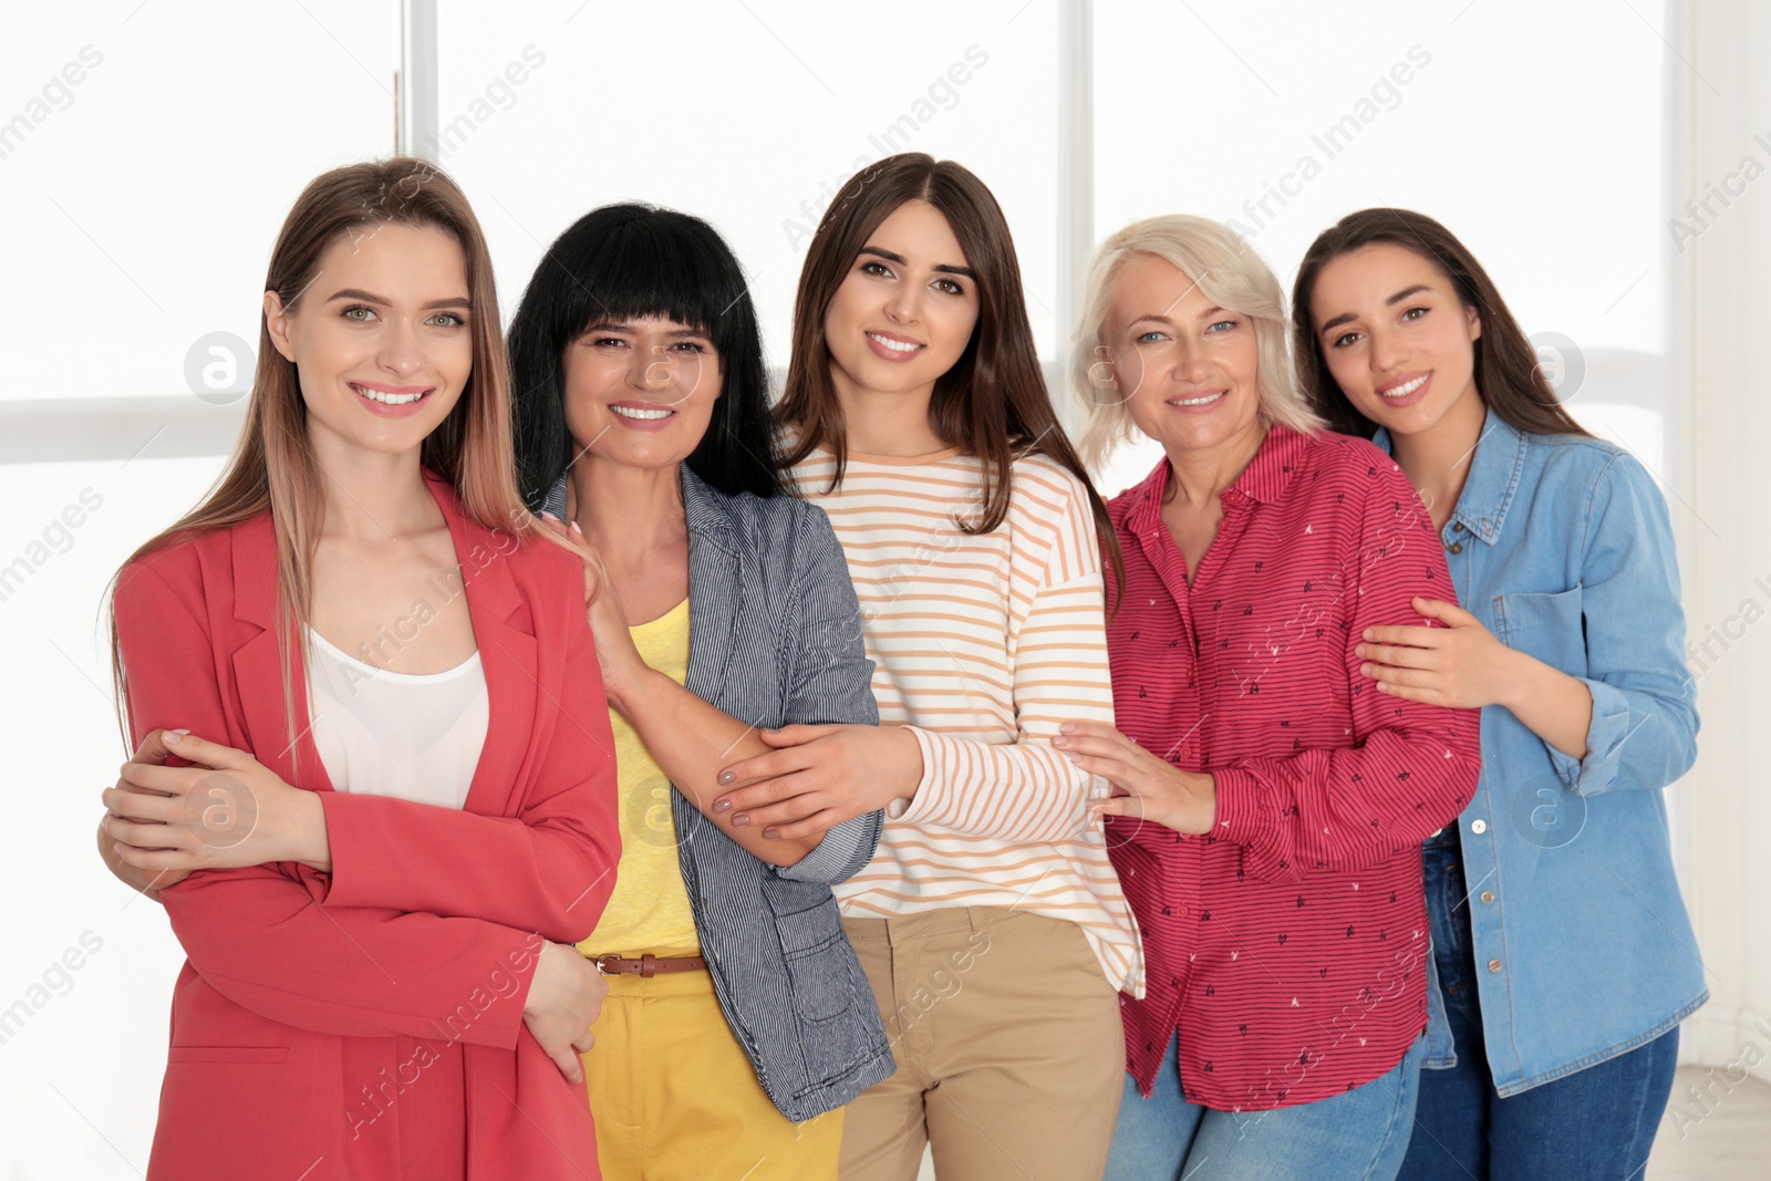
<instances>
[{"instance_id":1,"label":"smiling face of the woman in the blue denim shirt","mask_svg":"<svg viewBox=\"0 0 1771 1181\"><path fill-rule=\"evenodd\" d=\"M1341 255L1316 278L1311 319L1335 384L1390 434L1481 418L1482 322L1426 257L1390 243Z\"/></svg>"}]
</instances>

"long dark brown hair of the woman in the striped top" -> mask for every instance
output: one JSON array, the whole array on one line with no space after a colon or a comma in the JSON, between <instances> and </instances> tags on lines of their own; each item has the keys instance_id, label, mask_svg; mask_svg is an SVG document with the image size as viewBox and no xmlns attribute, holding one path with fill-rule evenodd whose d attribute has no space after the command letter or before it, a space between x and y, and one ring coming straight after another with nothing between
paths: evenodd
<instances>
[{"instance_id":1,"label":"long dark brown hair of the woman in the striped top","mask_svg":"<svg viewBox=\"0 0 1771 1181\"><path fill-rule=\"evenodd\" d=\"M1008 220L985 182L963 165L923 152L889 156L857 172L825 209L799 274L793 301L793 354L776 421L797 437L783 466L824 448L836 457L834 489L843 482L848 448L843 407L831 381L824 319L868 237L905 202L926 202L947 220L967 264L978 273L978 326L965 352L935 381L930 420L947 446L983 460L983 513L962 521L967 533L990 533L1008 515L1017 455L1047 455L1087 489L1094 528L1114 572L1119 545L1087 467L1052 409L1040 354L1027 322L1027 297Z\"/></svg>"}]
</instances>

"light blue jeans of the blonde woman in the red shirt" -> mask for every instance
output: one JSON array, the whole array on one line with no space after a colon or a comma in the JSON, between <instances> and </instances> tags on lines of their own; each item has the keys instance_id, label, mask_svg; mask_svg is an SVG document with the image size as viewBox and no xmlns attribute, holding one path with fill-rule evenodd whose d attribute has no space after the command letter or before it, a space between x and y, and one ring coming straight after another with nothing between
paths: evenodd
<instances>
[{"instance_id":1,"label":"light blue jeans of the blonde woman in the red shirt","mask_svg":"<svg viewBox=\"0 0 1771 1181\"><path fill-rule=\"evenodd\" d=\"M1362 1087L1270 1112L1220 1112L1181 1092L1176 1039L1146 1100L1125 1077L1105 1181L1390 1181L1413 1126L1426 1034Z\"/></svg>"}]
</instances>

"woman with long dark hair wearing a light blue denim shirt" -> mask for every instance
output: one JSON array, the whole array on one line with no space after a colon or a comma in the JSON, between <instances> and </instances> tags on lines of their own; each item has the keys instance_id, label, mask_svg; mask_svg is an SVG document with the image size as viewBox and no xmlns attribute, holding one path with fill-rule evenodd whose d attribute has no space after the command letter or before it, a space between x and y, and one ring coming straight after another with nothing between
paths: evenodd
<instances>
[{"instance_id":1,"label":"woman with long dark hair wearing a light blue denim shirt","mask_svg":"<svg viewBox=\"0 0 1771 1181\"><path fill-rule=\"evenodd\" d=\"M1293 320L1318 413L1396 455L1468 604L1367 630L1364 673L1482 710L1475 800L1426 845L1436 979L1401 1176L1636 1176L1709 995L1661 799L1697 749L1667 505L1431 218L1323 232Z\"/></svg>"}]
</instances>

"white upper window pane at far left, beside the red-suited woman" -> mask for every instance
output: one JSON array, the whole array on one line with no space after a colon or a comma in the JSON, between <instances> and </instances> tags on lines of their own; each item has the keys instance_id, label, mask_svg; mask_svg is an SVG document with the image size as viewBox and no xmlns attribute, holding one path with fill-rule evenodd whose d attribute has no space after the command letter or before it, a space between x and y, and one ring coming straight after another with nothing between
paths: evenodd
<instances>
[{"instance_id":1,"label":"white upper window pane at far left, beside the red-suited woman","mask_svg":"<svg viewBox=\"0 0 1771 1181\"><path fill-rule=\"evenodd\" d=\"M393 151L397 62L391 0L5 5L0 400L181 393L202 336L257 349L301 186Z\"/></svg>"}]
</instances>

